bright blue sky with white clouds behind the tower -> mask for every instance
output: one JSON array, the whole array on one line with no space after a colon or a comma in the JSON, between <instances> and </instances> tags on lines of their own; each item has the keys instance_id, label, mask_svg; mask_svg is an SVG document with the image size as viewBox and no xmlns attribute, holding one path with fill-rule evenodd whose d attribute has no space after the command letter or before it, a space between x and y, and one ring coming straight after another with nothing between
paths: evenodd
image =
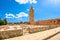
<instances>
[{"instance_id":1,"label":"bright blue sky with white clouds behind the tower","mask_svg":"<svg viewBox=\"0 0 60 40\"><path fill-rule=\"evenodd\" d=\"M29 21L31 6L35 21L60 18L60 0L0 0L0 18L8 22Z\"/></svg>"}]
</instances>

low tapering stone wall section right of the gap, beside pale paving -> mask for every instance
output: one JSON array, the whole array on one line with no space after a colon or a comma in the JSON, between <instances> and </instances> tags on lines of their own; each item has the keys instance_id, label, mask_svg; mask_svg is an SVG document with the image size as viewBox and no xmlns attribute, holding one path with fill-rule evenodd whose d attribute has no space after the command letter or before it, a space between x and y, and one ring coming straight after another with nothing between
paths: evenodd
<instances>
[{"instance_id":1,"label":"low tapering stone wall section right of the gap, beside pale paving","mask_svg":"<svg viewBox=\"0 0 60 40\"><path fill-rule=\"evenodd\" d=\"M59 26L48 26L48 27L37 27L37 28L28 28L29 33L33 33L33 32L38 32L38 31L44 31L44 30L49 30L49 29L53 29Z\"/></svg>"}]
</instances>

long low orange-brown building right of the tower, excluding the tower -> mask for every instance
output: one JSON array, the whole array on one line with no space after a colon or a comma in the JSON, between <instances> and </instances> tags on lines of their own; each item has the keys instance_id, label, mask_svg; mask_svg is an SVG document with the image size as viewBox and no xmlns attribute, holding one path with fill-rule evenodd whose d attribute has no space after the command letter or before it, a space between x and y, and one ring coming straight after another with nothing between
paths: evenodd
<instances>
[{"instance_id":1,"label":"long low orange-brown building right of the tower, excluding the tower","mask_svg":"<svg viewBox=\"0 0 60 40\"><path fill-rule=\"evenodd\" d=\"M41 20L35 22L36 25L60 25L60 19Z\"/></svg>"}]
</instances>

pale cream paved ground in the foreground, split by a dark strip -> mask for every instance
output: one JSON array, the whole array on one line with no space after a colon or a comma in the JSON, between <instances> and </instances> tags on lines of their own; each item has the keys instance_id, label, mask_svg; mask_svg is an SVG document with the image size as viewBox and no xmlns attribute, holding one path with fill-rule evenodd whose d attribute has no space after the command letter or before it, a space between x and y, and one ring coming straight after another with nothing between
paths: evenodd
<instances>
[{"instance_id":1,"label":"pale cream paved ground in the foreground, split by a dark strip","mask_svg":"<svg viewBox=\"0 0 60 40\"><path fill-rule=\"evenodd\" d=\"M27 34L20 37L5 39L5 40L43 40L57 32L60 32L60 27L55 29L50 29L43 32ZM49 40L60 40L60 34L55 35L54 37L50 38Z\"/></svg>"}]
</instances>

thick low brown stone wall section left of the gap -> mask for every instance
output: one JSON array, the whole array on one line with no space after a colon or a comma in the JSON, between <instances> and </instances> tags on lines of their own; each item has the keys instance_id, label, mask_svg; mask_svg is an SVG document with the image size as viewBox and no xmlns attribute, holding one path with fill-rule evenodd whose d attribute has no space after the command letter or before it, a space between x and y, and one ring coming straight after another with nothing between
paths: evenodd
<instances>
[{"instance_id":1,"label":"thick low brown stone wall section left of the gap","mask_svg":"<svg viewBox=\"0 0 60 40\"><path fill-rule=\"evenodd\" d=\"M10 38L22 35L22 30L0 31L0 38Z\"/></svg>"}]
</instances>

